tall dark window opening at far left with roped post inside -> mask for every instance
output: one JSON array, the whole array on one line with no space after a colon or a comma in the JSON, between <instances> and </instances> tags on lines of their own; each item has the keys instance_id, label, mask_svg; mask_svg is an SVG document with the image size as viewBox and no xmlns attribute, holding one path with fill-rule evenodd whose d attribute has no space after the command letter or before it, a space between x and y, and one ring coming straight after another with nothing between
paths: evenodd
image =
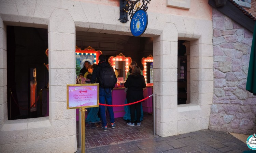
<instances>
[{"instance_id":1,"label":"tall dark window opening at far left with roped post inside","mask_svg":"<svg viewBox=\"0 0 256 153\"><path fill-rule=\"evenodd\" d=\"M47 29L6 29L8 120L49 116Z\"/></svg>"}]
</instances>

